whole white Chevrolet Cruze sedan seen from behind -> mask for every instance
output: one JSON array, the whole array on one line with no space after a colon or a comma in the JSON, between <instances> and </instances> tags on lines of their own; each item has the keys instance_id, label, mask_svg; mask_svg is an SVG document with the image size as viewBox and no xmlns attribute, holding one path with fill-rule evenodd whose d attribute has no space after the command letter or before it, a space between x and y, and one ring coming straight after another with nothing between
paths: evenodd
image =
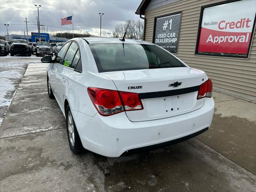
<instances>
[{"instance_id":1,"label":"whole white Chevrolet Cruze sedan seen from behind","mask_svg":"<svg viewBox=\"0 0 256 192\"><path fill-rule=\"evenodd\" d=\"M66 117L68 142L117 157L206 131L212 82L159 46L118 38L74 38L45 56L50 98Z\"/></svg>"}]
</instances>

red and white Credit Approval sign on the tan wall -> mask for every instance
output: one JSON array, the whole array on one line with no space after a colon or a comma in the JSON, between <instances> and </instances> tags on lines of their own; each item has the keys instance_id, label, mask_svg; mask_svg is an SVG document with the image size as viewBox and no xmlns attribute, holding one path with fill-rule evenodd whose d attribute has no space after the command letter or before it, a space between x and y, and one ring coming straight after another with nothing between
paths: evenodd
<instances>
[{"instance_id":1,"label":"red and white Credit Approval sign on the tan wall","mask_svg":"<svg viewBox=\"0 0 256 192\"><path fill-rule=\"evenodd\" d=\"M197 52L247 54L256 0L241 0L204 8Z\"/></svg>"}]
</instances>

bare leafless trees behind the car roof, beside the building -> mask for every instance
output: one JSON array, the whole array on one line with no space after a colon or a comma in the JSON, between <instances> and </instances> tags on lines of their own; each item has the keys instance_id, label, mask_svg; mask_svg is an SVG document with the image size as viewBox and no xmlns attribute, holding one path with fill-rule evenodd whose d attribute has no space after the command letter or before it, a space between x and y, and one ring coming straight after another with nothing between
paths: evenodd
<instances>
[{"instance_id":1,"label":"bare leafless trees behind the car roof, beside the building","mask_svg":"<svg viewBox=\"0 0 256 192\"><path fill-rule=\"evenodd\" d=\"M130 21L130 24L129 24L127 32L126 32L126 38L142 39L142 33L143 33L142 20L127 20L126 22L117 24L115 26L113 36L117 37L117 38L122 38L124 36L124 32L127 28L129 21Z\"/></svg>"}]
</instances>

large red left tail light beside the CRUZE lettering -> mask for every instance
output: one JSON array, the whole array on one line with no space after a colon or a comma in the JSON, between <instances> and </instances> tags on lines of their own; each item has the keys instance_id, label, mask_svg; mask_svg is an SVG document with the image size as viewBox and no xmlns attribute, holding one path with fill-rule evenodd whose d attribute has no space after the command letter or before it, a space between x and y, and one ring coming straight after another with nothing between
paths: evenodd
<instances>
[{"instance_id":1,"label":"large red left tail light beside the CRUZE lettering","mask_svg":"<svg viewBox=\"0 0 256 192\"><path fill-rule=\"evenodd\" d=\"M95 108L103 116L143 109L141 100L136 93L89 87L88 94Z\"/></svg>"}]
</instances>

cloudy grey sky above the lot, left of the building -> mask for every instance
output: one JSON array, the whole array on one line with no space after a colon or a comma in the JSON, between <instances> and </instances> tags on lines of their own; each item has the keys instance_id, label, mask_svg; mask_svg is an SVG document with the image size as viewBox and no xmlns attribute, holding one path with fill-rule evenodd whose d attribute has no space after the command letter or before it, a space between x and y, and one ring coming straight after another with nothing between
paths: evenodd
<instances>
[{"instance_id":1,"label":"cloudy grey sky above the lot, left of the building","mask_svg":"<svg viewBox=\"0 0 256 192\"><path fill-rule=\"evenodd\" d=\"M26 30L25 17L30 22L28 33L37 32L36 24L37 8L39 8L40 24L48 26L48 32L72 32L72 30L53 28L63 27L72 29L72 24L60 25L60 18L73 14L74 29L87 30L92 35L99 35L100 16L102 16L102 33L113 33L114 27L128 19L138 20L140 17L134 12L141 0L0 0L0 34L7 34L6 26L10 24L8 33L24 34L20 30ZM22 25L17 25L22 24ZM45 30L47 27L45 27ZM42 27L41 27L42 30ZM76 33L83 31L74 30ZM43 32L43 31L41 31ZM46 32L46 31L45 31ZM108 36L108 34L102 34Z\"/></svg>"}]
</instances>

